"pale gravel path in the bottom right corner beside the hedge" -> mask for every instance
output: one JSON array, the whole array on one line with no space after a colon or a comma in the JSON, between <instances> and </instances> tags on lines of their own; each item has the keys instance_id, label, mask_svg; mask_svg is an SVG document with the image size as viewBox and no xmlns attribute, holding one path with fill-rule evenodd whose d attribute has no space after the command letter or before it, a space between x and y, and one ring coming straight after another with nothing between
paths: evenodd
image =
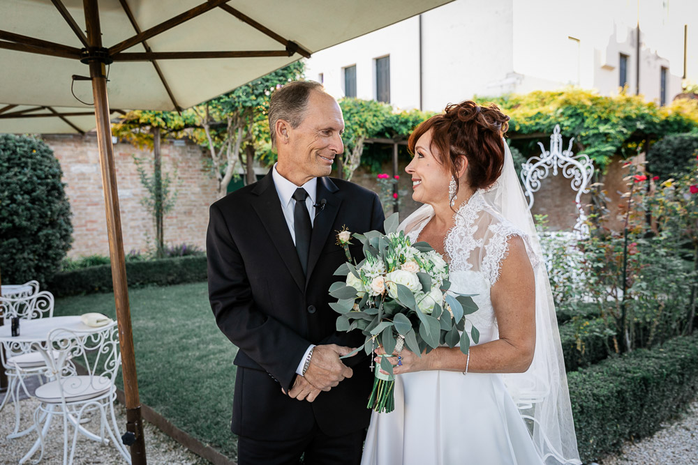
<instances>
[{"instance_id":1,"label":"pale gravel path in the bottom right corner beside the hedge","mask_svg":"<svg viewBox=\"0 0 698 465\"><path fill-rule=\"evenodd\" d=\"M602 465L695 465L698 464L698 400L688 411L662 429L637 443L623 445L617 455L606 457Z\"/></svg>"}]
</instances>

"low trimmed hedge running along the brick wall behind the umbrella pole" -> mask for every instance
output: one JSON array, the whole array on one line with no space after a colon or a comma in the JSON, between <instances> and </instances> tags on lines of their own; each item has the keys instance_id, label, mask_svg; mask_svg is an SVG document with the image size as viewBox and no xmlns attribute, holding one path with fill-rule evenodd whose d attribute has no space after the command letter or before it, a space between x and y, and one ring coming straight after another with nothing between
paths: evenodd
<instances>
[{"instance_id":1,"label":"low trimmed hedge running along the brick wall behind the umbrella pole","mask_svg":"<svg viewBox=\"0 0 698 465\"><path fill-rule=\"evenodd\" d=\"M126 263L128 287L144 287L149 284L170 286L184 282L200 282L205 281L206 276L205 256ZM110 265L100 265L57 273L47 283L47 288L56 297L112 292L114 290L112 268Z\"/></svg>"}]
</instances>

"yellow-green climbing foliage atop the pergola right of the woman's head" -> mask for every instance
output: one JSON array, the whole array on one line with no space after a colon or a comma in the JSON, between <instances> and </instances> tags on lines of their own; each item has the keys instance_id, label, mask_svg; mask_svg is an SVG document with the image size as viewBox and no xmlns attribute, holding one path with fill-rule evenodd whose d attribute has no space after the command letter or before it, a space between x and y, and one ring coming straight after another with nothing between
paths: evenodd
<instances>
[{"instance_id":1,"label":"yellow-green climbing foliage atop the pergola right of the woman's head","mask_svg":"<svg viewBox=\"0 0 698 465\"><path fill-rule=\"evenodd\" d=\"M540 152L538 141L547 146L549 135L559 124L565 142L574 137L573 150L586 153L600 167L613 155L634 155L644 140L652 142L698 129L698 101L694 100L674 100L658 107L641 96L623 93L607 97L577 88L475 100L480 104L494 102L510 116L510 135L534 135L533 139L516 141L526 155ZM535 137L538 134L542 135Z\"/></svg>"}]
</instances>

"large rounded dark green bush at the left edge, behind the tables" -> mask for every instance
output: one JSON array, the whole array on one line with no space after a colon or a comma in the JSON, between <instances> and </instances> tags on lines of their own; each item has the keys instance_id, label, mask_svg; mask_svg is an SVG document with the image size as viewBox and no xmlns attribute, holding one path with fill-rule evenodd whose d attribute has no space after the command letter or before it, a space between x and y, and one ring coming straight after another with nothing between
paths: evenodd
<instances>
[{"instance_id":1,"label":"large rounded dark green bush at the left edge, behind the tables","mask_svg":"<svg viewBox=\"0 0 698 465\"><path fill-rule=\"evenodd\" d=\"M40 139L0 135L0 273L43 283L73 242L70 204L53 151Z\"/></svg>"}]
</instances>

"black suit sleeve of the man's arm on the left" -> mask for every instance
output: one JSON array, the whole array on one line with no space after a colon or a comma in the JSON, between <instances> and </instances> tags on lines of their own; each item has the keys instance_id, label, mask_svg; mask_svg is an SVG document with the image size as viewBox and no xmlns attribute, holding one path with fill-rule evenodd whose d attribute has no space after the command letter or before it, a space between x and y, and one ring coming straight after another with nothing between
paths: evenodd
<instances>
[{"instance_id":1,"label":"black suit sleeve of the man's arm on the left","mask_svg":"<svg viewBox=\"0 0 698 465\"><path fill-rule=\"evenodd\" d=\"M288 392L311 343L256 307L242 254L215 204L209 212L206 253L209 301L218 328Z\"/></svg>"}]
</instances>

